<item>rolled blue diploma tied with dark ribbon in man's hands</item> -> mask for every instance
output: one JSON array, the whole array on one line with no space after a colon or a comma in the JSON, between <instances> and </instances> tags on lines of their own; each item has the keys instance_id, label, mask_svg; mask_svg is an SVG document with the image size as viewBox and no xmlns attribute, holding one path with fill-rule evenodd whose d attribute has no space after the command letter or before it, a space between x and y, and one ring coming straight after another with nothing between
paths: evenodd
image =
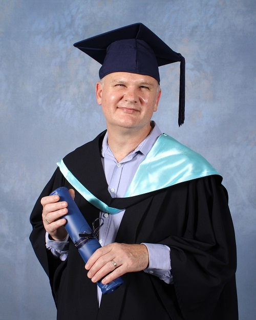
<instances>
[{"instance_id":1,"label":"rolled blue diploma tied with dark ribbon in man's hands","mask_svg":"<svg viewBox=\"0 0 256 320\"><path fill-rule=\"evenodd\" d=\"M84 219L81 211L78 209L76 203L72 199L69 190L66 187L60 187L56 190L52 191L50 196L59 196L59 201L66 201L68 203L68 213L62 218L66 219L67 223L65 224L65 228L69 233L69 236L73 242L76 242L80 237L79 233L83 233L84 231L87 233L91 233L92 229L87 223L86 219ZM83 261L87 263L91 255L100 248L101 245L97 238L89 240L86 244L84 244L80 249L78 249ZM101 281L97 282L97 285L102 291L102 294L108 294L115 291L118 287L123 284L122 279L119 277L112 282L103 285Z\"/></svg>"}]
</instances>

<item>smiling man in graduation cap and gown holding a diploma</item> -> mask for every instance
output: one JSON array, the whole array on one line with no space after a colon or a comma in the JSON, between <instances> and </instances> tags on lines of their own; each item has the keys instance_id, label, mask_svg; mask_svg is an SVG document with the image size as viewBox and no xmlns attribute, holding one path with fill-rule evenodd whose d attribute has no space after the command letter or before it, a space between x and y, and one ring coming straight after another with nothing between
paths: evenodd
<instances>
[{"instance_id":1,"label":"smiling man in graduation cap and gown holding a diploma","mask_svg":"<svg viewBox=\"0 0 256 320\"><path fill-rule=\"evenodd\" d=\"M57 318L237 319L236 244L222 178L151 121L158 66L181 61L183 123L184 58L142 24L75 46L102 63L96 99L107 130L58 163L31 214L30 239ZM85 268L64 228L67 203L49 196L60 186L89 225L104 220L102 248ZM118 276L124 284L101 295L95 282Z\"/></svg>"}]
</instances>

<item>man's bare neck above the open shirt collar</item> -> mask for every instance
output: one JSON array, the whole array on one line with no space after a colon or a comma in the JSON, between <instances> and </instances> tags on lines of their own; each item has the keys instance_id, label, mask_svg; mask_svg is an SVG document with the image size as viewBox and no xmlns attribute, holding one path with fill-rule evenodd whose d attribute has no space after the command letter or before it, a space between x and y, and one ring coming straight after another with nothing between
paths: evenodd
<instances>
[{"instance_id":1,"label":"man's bare neck above the open shirt collar","mask_svg":"<svg viewBox=\"0 0 256 320\"><path fill-rule=\"evenodd\" d=\"M107 128L108 129L108 128ZM119 133L108 129L108 144L115 159L120 162L151 133L150 123L138 131L131 129L121 130Z\"/></svg>"}]
</instances>

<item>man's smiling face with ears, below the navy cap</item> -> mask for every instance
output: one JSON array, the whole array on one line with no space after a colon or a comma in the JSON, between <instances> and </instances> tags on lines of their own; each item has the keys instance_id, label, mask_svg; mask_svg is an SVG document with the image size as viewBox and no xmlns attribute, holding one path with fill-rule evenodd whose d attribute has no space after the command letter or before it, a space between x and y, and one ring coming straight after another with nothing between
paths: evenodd
<instances>
[{"instance_id":1,"label":"man's smiling face with ears, below the navy cap","mask_svg":"<svg viewBox=\"0 0 256 320\"><path fill-rule=\"evenodd\" d=\"M96 98L109 129L116 127L140 130L150 125L157 111L161 90L151 76L114 72L96 83Z\"/></svg>"}]
</instances>

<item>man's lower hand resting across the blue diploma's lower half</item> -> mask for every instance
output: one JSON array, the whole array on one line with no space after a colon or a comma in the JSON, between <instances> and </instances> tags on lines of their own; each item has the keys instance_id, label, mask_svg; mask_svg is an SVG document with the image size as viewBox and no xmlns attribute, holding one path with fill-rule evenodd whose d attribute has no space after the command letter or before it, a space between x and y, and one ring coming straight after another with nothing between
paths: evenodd
<instances>
[{"instance_id":1,"label":"man's lower hand resting across the blue diploma's lower half","mask_svg":"<svg viewBox=\"0 0 256 320\"><path fill-rule=\"evenodd\" d=\"M148 251L144 244L111 243L97 249L86 264L88 278L108 284L127 272L144 270L148 266Z\"/></svg>"}]
</instances>

